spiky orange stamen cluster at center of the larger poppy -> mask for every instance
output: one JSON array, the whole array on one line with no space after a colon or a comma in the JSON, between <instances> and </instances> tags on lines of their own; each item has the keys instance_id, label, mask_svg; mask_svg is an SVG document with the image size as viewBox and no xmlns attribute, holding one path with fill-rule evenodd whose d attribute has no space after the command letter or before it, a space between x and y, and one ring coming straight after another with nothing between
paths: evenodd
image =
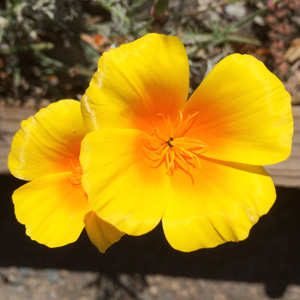
<instances>
[{"instance_id":1,"label":"spiky orange stamen cluster at center of the larger poppy","mask_svg":"<svg viewBox=\"0 0 300 300\"><path fill-rule=\"evenodd\" d=\"M163 129L166 130L152 128L143 148L152 168L165 165L168 175L173 175L174 171L179 169L188 174L193 181L191 167L201 167L199 158L207 151L207 145L203 141L187 136L197 115L198 112L184 119L179 112L179 117L172 123L169 116L158 114L163 118Z\"/></svg>"}]
</instances>

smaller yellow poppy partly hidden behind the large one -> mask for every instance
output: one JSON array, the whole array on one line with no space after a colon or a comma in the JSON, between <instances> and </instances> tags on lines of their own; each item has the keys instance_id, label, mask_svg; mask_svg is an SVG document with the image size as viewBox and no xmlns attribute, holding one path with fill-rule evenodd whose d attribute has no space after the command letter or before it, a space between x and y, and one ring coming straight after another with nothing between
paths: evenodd
<instances>
[{"instance_id":1,"label":"smaller yellow poppy partly hidden behind the large one","mask_svg":"<svg viewBox=\"0 0 300 300\"><path fill-rule=\"evenodd\" d=\"M26 234L48 247L75 242L84 226L101 252L123 233L99 219L81 186L81 141L86 134L80 103L61 100L21 123L8 166L11 173L30 181L13 193L18 221Z\"/></svg>"}]
</instances>

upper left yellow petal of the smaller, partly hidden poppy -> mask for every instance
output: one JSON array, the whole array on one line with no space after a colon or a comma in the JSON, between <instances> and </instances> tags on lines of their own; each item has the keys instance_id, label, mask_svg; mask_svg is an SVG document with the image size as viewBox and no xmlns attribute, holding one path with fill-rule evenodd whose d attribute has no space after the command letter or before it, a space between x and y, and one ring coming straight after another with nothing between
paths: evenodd
<instances>
[{"instance_id":1,"label":"upper left yellow petal of the smaller, partly hidden poppy","mask_svg":"<svg viewBox=\"0 0 300 300\"><path fill-rule=\"evenodd\" d=\"M46 174L71 171L72 164L78 162L85 134L78 101L50 104L21 123L8 158L10 172L30 181Z\"/></svg>"}]
</instances>

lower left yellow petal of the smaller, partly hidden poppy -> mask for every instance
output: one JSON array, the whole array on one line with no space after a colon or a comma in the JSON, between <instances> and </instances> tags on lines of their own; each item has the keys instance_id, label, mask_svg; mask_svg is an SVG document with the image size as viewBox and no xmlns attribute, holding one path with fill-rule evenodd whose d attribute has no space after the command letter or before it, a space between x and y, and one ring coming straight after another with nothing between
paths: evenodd
<instances>
[{"instance_id":1,"label":"lower left yellow petal of the smaller, partly hidden poppy","mask_svg":"<svg viewBox=\"0 0 300 300\"><path fill-rule=\"evenodd\" d=\"M70 175L46 175L24 184L12 196L16 217L26 226L26 234L51 248L75 242L90 210L83 189L71 184Z\"/></svg>"}]
</instances>

